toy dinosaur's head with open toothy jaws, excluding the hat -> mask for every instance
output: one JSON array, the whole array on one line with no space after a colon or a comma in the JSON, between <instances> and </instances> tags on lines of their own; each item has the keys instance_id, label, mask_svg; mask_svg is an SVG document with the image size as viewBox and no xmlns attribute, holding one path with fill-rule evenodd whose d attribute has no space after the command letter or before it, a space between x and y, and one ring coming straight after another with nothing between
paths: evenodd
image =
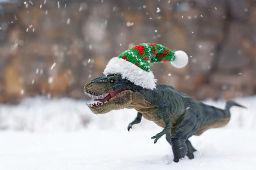
<instances>
[{"instance_id":1,"label":"toy dinosaur's head with open toothy jaws, excluding the hat","mask_svg":"<svg viewBox=\"0 0 256 170\"><path fill-rule=\"evenodd\" d=\"M120 74L98 77L83 88L86 95L95 98L95 103L87 104L94 114L126 108L132 102L132 83L122 79Z\"/></svg>"}]
</instances>

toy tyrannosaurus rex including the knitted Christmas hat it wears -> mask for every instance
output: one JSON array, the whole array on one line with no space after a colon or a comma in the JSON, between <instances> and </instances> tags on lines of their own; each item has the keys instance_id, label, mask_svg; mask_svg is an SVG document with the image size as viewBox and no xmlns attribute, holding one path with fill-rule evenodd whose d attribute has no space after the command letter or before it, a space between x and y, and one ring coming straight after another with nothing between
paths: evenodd
<instances>
[{"instance_id":1,"label":"toy tyrannosaurus rex including the knitted Christmas hat it wears","mask_svg":"<svg viewBox=\"0 0 256 170\"><path fill-rule=\"evenodd\" d=\"M196 150L188 138L226 125L230 120L230 107L242 106L228 101L225 110L221 110L196 101L171 86L156 85L150 63L162 62L181 68L188 63L188 56L184 51L173 52L160 44L143 43L112 58L103 72L106 77L95 78L85 85L85 94L96 97L94 101L97 101L88 106L95 114L135 108L138 114L129 123L128 131L132 125L141 122L143 116L164 128L152 138L156 143L166 134L173 149L174 162L185 155L193 159Z\"/></svg>"}]
</instances>

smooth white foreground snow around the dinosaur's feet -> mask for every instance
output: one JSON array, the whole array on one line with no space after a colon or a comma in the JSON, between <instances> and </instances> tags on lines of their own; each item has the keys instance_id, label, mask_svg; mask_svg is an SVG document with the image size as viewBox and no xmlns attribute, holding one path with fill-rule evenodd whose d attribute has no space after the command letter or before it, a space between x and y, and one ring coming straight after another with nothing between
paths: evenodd
<instances>
[{"instance_id":1,"label":"smooth white foreground snow around the dinosaur's feet","mask_svg":"<svg viewBox=\"0 0 256 170\"><path fill-rule=\"evenodd\" d=\"M173 162L159 130L83 130L72 133L0 132L1 170L255 169L255 130L212 129L191 137L195 159Z\"/></svg>"}]
</instances>

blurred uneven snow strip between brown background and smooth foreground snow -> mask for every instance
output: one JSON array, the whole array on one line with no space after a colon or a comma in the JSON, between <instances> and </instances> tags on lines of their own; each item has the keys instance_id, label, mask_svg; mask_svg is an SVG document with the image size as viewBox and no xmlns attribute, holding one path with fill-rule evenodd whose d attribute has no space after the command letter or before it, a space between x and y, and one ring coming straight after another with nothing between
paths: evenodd
<instances>
[{"instance_id":1,"label":"blurred uneven snow strip between brown background and smooth foreground snow","mask_svg":"<svg viewBox=\"0 0 256 170\"><path fill-rule=\"evenodd\" d=\"M234 100L248 109L231 107L231 121L223 128L256 129L256 96ZM18 105L0 104L0 129L29 132L66 132L84 128L125 129L137 115L134 109L113 110L107 114L94 115L85 103L92 103L92 100L47 99L38 96L26 98ZM218 108L225 107L224 100L208 99L204 103ZM156 127L156 124L145 119L139 125L139 129Z\"/></svg>"}]
</instances>

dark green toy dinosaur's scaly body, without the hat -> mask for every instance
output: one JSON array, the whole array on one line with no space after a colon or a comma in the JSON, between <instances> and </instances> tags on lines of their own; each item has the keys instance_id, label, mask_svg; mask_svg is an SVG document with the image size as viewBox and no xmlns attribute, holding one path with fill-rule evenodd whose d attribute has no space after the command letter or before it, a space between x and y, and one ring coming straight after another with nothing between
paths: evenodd
<instances>
[{"instance_id":1,"label":"dark green toy dinosaur's scaly body, without the hat","mask_svg":"<svg viewBox=\"0 0 256 170\"><path fill-rule=\"evenodd\" d=\"M87 95L102 96L109 93L103 101L104 104L89 105L94 114L103 114L111 110L134 108L138 111L137 117L129 123L128 131L132 125L141 122L142 116L164 129L153 136L154 143L166 134L166 140L171 144L174 162L185 155L193 159L196 151L189 137L200 135L205 130L222 127L230 120L230 107L243 107L234 101L228 101L224 110L208 106L178 92L172 86L157 85L155 89L144 89L132 82L122 79L120 74L99 77L88 82L84 91ZM105 102L104 102L105 101Z\"/></svg>"}]
</instances>

